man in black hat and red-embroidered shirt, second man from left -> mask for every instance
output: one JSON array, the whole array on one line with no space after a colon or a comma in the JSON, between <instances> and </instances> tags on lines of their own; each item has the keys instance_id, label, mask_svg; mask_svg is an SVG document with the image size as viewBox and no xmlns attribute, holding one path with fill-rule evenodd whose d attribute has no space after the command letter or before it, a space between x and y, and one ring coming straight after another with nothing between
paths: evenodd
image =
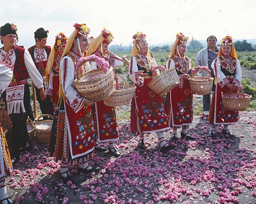
<instances>
[{"instance_id":1,"label":"man in black hat and red-embroidered shirt, second man from left","mask_svg":"<svg viewBox=\"0 0 256 204\"><path fill-rule=\"evenodd\" d=\"M38 28L34 33L35 45L28 48L28 51L35 63L37 70L40 72L42 78L44 79L45 90L47 90L47 87L48 87L48 84L46 83L46 77L45 77L46 65L47 65L48 57L51 52L51 47L46 45L48 33L49 33L48 30L44 30L44 28ZM38 103L40 104L40 109L42 114L53 115L53 105L52 105L50 95L46 95L46 99L42 101L39 95L40 91L37 88L35 88L35 90L36 90L36 98ZM47 119L47 117L44 117L44 119Z\"/></svg>"}]
</instances>

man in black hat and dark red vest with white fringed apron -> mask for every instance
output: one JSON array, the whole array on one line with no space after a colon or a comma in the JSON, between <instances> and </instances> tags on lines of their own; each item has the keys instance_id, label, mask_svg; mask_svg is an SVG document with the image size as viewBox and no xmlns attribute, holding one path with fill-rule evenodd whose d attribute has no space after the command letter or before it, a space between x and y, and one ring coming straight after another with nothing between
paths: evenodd
<instances>
[{"instance_id":1,"label":"man in black hat and dark red vest with white fringed apron","mask_svg":"<svg viewBox=\"0 0 256 204\"><path fill-rule=\"evenodd\" d=\"M41 74L24 48L15 46L17 27L14 24L5 24L1 27L0 61L6 63L13 70L12 82L6 89L7 112L11 117L12 126L12 162L19 159L19 151L27 150L28 143L27 111L31 109L30 91L27 78L30 77L35 87L40 90L40 99L45 100L45 91Z\"/></svg>"}]
</instances>

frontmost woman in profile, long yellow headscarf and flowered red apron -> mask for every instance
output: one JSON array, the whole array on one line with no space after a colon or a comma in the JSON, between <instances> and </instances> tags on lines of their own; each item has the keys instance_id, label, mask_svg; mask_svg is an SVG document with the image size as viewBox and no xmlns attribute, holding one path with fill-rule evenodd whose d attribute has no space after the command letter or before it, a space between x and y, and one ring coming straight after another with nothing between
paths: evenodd
<instances>
[{"instance_id":1,"label":"frontmost woman in profile, long yellow headscarf and flowered red apron","mask_svg":"<svg viewBox=\"0 0 256 204\"><path fill-rule=\"evenodd\" d=\"M70 163L78 163L78 172L87 174L98 172L99 167L92 167L88 160L94 153L94 127L90 106L93 101L83 98L73 86L77 78L77 61L84 56L88 44L90 28L86 24L74 24L75 30L68 39L60 64L60 108L56 109L53 127L57 125L56 144L53 142L53 134L49 145L49 152L53 152L55 145L55 157L61 158L59 169L60 177L70 180L68 171ZM86 69L90 70L90 64L86 63ZM56 124L57 118L57 124ZM53 139L53 140L52 140Z\"/></svg>"}]
</instances>

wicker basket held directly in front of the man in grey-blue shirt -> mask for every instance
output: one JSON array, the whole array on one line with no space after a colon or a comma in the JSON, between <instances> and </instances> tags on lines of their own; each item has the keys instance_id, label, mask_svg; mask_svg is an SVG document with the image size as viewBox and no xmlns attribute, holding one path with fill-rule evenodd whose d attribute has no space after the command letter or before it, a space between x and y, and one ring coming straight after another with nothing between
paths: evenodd
<instances>
[{"instance_id":1,"label":"wicker basket held directly in front of the man in grey-blue shirt","mask_svg":"<svg viewBox=\"0 0 256 204\"><path fill-rule=\"evenodd\" d=\"M205 69L205 71L208 70ZM209 77L195 77L195 73L196 72L192 72L191 78L189 78L191 92L198 95L206 95L211 93L213 84L211 73L208 71Z\"/></svg>"}]
</instances>

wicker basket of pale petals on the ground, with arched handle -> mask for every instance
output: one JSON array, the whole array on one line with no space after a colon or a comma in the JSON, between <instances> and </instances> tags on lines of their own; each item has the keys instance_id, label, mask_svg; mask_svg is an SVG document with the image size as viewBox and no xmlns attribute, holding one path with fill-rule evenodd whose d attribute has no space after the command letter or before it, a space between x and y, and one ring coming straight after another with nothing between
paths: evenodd
<instances>
[{"instance_id":1,"label":"wicker basket of pale petals on the ground, with arched handle","mask_svg":"<svg viewBox=\"0 0 256 204\"><path fill-rule=\"evenodd\" d=\"M38 119L35 122L35 135L36 135L36 140L38 143L47 143L50 136L51 136L51 130L52 130L52 120L40 120L41 117L48 116L53 119L52 115L49 114L43 114L38 117ZM46 128L44 128L46 127Z\"/></svg>"}]
</instances>

